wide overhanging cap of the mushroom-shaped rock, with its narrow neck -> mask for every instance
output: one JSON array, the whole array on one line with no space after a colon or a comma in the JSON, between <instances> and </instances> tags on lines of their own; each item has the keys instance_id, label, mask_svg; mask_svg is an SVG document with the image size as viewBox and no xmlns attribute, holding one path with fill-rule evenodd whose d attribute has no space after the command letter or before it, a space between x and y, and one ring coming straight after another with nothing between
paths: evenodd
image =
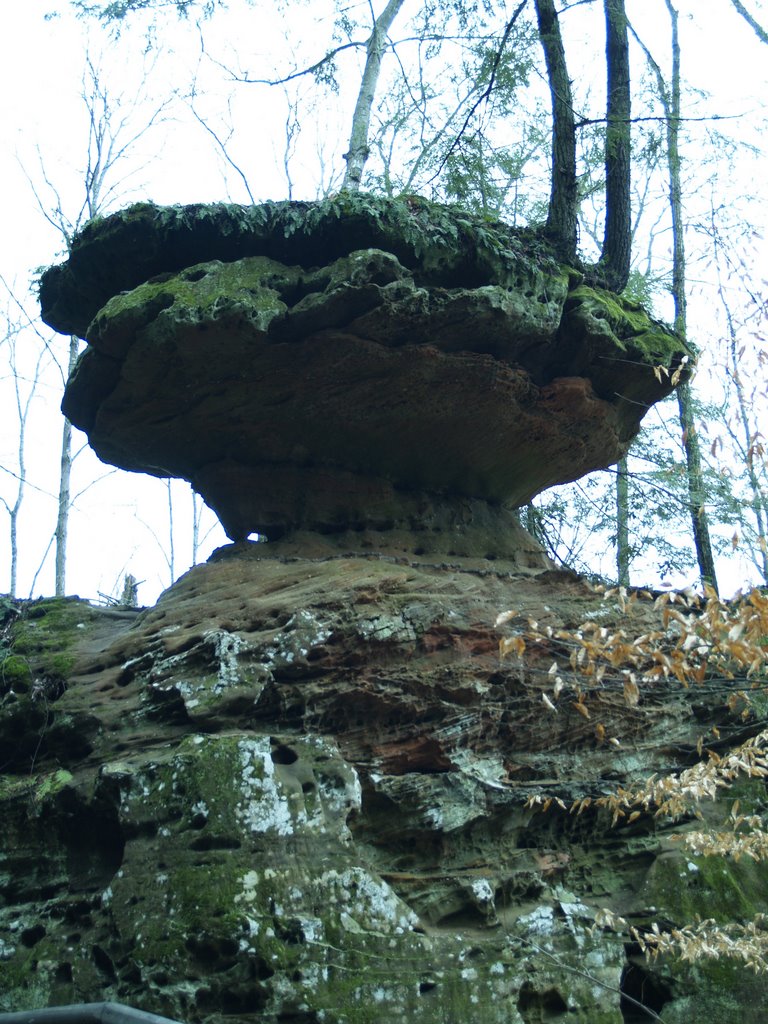
<instances>
[{"instance_id":1,"label":"wide overhanging cap of the mushroom-shaped rock, with its narrow neck","mask_svg":"<svg viewBox=\"0 0 768 1024\"><path fill-rule=\"evenodd\" d=\"M133 207L41 302L89 343L62 408L99 458L189 480L234 540L455 532L478 501L501 534L620 459L685 355L509 228L370 197Z\"/></svg>"}]
</instances>

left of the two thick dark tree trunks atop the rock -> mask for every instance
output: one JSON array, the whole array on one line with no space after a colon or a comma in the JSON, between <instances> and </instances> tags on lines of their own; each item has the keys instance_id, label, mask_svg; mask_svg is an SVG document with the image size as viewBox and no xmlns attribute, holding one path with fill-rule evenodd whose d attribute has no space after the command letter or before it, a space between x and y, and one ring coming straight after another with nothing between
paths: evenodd
<instances>
[{"instance_id":1,"label":"left of the two thick dark tree trunks atop the rock","mask_svg":"<svg viewBox=\"0 0 768 1024\"><path fill-rule=\"evenodd\" d=\"M554 0L536 0L536 13L552 98L552 190L546 230L562 259L572 261L579 210L573 99Z\"/></svg>"}]
</instances>

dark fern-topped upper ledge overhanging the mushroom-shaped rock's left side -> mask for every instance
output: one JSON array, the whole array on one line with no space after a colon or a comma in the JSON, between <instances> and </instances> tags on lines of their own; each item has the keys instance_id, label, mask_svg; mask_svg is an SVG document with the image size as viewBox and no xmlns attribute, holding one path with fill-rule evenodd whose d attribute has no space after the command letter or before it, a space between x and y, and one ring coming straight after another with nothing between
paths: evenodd
<instances>
[{"instance_id":1,"label":"dark fern-topped upper ledge overhanging the mushroom-shaped rock's left side","mask_svg":"<svg viewBox=\"0 0 768 1024\"><path fill-rule=\"evenodd\" d=\"M136 203L89 221L68 262L43 273L43 319L62 334L85 337L109 298L160 273L244 256L321 266L367 248L392 253L420 282L443 288L510 287L531 270L561 273L531 232L418 196L340 193L257 206Z\"/></svg>"}]
</instances>

